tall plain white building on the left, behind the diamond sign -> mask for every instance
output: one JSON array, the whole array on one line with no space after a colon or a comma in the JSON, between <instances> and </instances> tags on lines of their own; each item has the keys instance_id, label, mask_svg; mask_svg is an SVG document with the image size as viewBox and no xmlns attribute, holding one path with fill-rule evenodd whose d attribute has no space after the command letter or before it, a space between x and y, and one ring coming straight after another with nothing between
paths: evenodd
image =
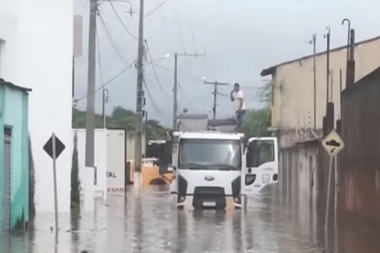
<instances>
[{"instance_id":1,"label":"tall plain white building on the left, behind the diamond sign","mask_svg":"<svg viewBox=\"0 0 380 253\"><path fill-rule=\"evenodd\" d=\"M37 213L54 211L52 160L43 150L54 132L66 149L57 160L58 207L70 209L72 0L0 1L0 75L30 87L29 132Z\"/></svg>"}]
</instances>

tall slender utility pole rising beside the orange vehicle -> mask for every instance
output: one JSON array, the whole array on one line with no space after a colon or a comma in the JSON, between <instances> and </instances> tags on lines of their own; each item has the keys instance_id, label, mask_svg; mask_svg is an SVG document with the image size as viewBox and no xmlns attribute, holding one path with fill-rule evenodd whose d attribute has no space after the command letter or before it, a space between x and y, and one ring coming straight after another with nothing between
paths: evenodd
<instances>
[{"instance_id":1,"label":"tall slender utility pole rising beside the orange vehicle","mask_svg":"<svg viewBox=\"0 0 380 253\"><path fill-rule=\"evenodd\" d=\"M137 54L137 89L136 89L136 136L134 170L138 175L137 184L140 188L140 173L142 159L142 102L143 102L143 57L144 57L144 0L140 0L139 27L138 27L138 54Z\"/></svg>"}]
</instances>

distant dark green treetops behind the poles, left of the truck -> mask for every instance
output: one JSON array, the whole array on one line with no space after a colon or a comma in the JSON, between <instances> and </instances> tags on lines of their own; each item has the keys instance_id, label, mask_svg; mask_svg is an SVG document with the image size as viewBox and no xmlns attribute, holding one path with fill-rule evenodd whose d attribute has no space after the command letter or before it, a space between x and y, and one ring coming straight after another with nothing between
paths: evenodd
<instances>
[{"instance_id":1,"label":"distant dark green treetops behind the poles, left of the truck","mask_svg":"<svg viewBox=\"0 0 380 253\"><path fill-rule=\"evenodd\" d=\"M72 126L73 128L86 127L86 112L78 109L72 109ZM102 128L102 116L95 114L95 128ZM107 128L119 128L134 131L135 129L135 113L131 110L125 109L122 106L113 108L111 115L106 116ZM146 122L146 139L147 140L161 140L166 139L166 129L160 124L159 121L149 119Z\"/></svg>"}]
</instances>

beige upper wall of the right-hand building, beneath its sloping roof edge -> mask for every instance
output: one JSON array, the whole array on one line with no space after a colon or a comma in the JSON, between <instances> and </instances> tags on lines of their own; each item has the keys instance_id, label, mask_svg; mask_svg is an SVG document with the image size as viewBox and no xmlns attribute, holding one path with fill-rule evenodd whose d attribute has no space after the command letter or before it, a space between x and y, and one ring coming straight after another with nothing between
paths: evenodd
<instances>
[{"instance_id":1,"label":"beige upper wall of the right-hand building, beneath its sloping roof edge","mask_svg":"<svg viewBox=\"0 0 380 253\"><path fill-rule=\"evenodd\" d=\"M380 36L355 44L355 79L380 65ZM347 47L330 50L329 102L335 103L335 119L340 115L340 77L346 88ZM313 55L283 62L262 70L272 75L272 126L279 132L280 147L290 147L296 140L297 128L314 128L314 64ZM322 129L327 100L327 54L316 55L316 132Z\"/></svg>"}]
</instances>

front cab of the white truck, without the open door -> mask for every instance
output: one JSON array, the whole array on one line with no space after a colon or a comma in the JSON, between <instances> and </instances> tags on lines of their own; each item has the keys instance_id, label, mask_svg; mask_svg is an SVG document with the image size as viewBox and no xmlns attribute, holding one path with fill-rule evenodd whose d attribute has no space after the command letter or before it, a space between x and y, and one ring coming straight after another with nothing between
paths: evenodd
<instances>
[{"instance_id":1,"label":"front cab of the white truck, without the open door","mask_svg":"<svg viewBox=\"0 0 380 253\"><path fill-rule=\"evenodd\" d=\"M183 208L240 208L244 143L242 134L175 133L177 145L171 193Z\"/></svg>"}]
</instances>

